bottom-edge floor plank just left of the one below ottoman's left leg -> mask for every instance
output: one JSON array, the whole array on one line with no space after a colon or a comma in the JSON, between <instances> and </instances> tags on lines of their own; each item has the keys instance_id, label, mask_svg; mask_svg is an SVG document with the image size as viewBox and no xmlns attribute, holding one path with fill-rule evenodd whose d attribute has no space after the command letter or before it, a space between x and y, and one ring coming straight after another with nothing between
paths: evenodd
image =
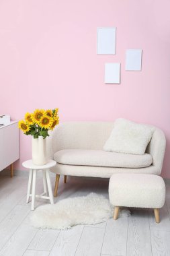
<instances>
[{"instance_id":1,"label":"bottom-edge floor plank just left of the one below ottoman's left leg","mask_svg":"<svg viewBox=\"0 0 170 256\"><path fill-rule=\"evenodd\" d=\"M99 256L105 229L85 227L81 235L75 256Z\"/></svg>"}]
</instances>

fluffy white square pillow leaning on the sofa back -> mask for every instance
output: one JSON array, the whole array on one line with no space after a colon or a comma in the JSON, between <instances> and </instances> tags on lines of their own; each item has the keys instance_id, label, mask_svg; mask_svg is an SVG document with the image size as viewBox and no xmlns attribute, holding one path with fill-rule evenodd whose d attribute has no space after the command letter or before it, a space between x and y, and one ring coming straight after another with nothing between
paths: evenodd
<instances>
[{"instance_id":1,"label":"fluffy white square pillow leaning on the sofa back","mask_svg":"<svg viewBox=\"0 0 170 256\"><path fill-rule=\"evenodd\" d=\"M128 121L116 119L114 129L103 146L103 150L126 153L144 154L153 135L153 128Z\"/></svg>"}]
</instances>

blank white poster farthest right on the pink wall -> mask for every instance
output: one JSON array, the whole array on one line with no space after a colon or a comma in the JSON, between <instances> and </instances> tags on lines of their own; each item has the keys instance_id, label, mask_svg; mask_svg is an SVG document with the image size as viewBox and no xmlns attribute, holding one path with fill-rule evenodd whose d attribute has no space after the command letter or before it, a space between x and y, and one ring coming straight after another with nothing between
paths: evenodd
<instances>
[{"instance_id":1,"label":"blank white poster farthest right on the pink wall","mask_svg":"<svg viewBox=\"0 0 170 256\"><path fill-rule=\"evenodd\" d=\"M140 71L142 65L142 50L126 50L126 70Z\"/></svg>"}]
</instances>

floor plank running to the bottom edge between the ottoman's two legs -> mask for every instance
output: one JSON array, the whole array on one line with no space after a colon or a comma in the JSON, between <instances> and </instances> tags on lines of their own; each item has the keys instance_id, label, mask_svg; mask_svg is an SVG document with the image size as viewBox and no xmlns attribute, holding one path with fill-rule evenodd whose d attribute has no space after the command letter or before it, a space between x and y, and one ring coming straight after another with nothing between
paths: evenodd
<instances>
[{"instance_id":1,"label":"floor plank running to the bottom edge between the ottoman's two legs","mask_svg":"<svg viewBox=\"0 0 170 256\"><path fill-rule=\"evenodd\" d=\"M151 256L151 236L148 210L133 210L128 218L128 240L126 256Z\"/></svg>"}]
</instances>

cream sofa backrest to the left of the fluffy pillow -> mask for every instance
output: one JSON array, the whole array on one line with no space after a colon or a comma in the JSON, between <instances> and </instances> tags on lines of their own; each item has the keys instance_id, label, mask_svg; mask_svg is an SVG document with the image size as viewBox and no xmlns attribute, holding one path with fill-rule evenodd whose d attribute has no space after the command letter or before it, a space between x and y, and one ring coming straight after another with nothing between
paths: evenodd
<instances>
[{"instance_id":1,"label":"cream sofa backrest to the left of the fluffy pillow","mask_svg":"<svg viewBox=\"0 0 170 256\"><path fill-rule=\"evenodd\" d=\"M62 123L51 134L52 150L102 150L113 127L114 122Z\"/></svg>"}]
</instances>

